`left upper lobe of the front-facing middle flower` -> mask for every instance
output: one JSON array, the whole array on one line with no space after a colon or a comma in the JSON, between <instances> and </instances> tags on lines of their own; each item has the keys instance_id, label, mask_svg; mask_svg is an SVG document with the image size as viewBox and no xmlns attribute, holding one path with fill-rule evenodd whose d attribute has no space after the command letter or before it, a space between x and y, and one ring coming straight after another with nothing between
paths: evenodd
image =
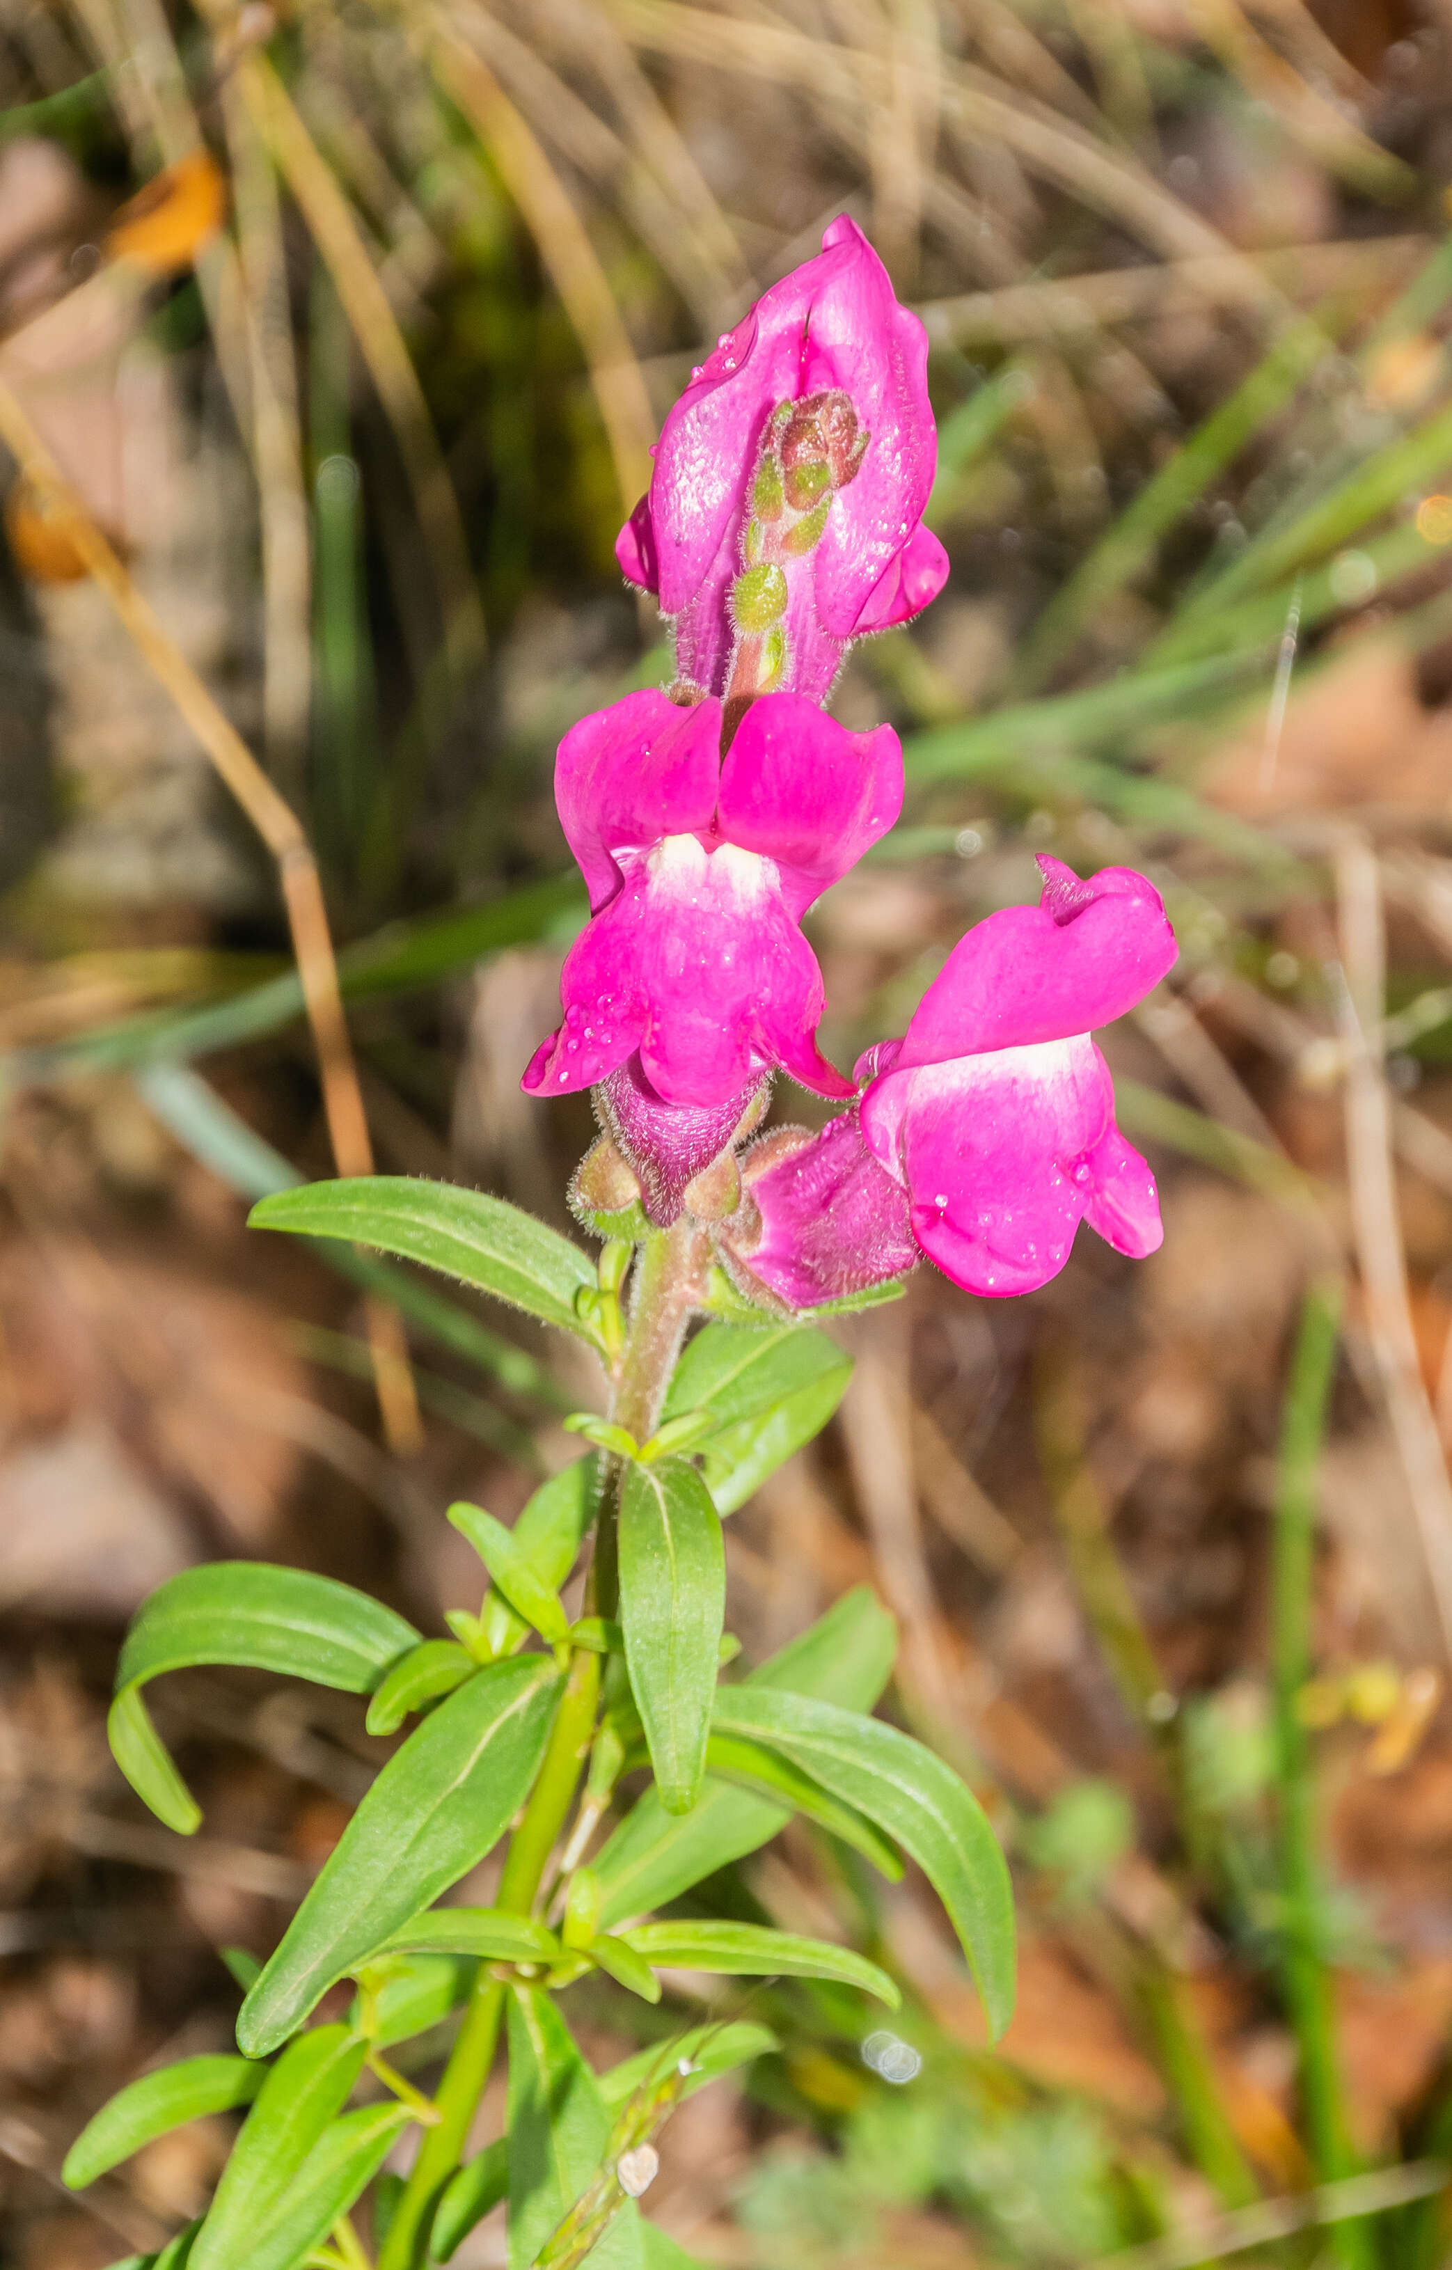
<instances>
[{"instance_id":1,"label":"left upper lobe of the front-facing middle flower","mask_svg":"<svg viewBox=\"0 0 1452 2270\"><path fill-rule=\"evenodd\" d=\"M554 799L592 913L619 888L617 854L710 826L719 738L719 701L681 708L660 688L592 711L565 733Z\"/></svg>"}]
</instances>

